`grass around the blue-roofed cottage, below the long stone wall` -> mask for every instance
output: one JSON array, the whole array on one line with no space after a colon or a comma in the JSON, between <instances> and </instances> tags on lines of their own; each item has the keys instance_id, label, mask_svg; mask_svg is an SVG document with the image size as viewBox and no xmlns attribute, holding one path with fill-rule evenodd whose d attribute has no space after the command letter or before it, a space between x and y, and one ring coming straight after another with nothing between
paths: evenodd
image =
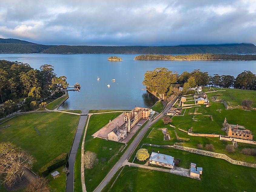
<instances>
[{"instance_id":1,"label":"grass around the blue-roofed cottage, below the long stone wall","mask_svg":"<svg viewBox=\"0 0 256 192\"><path fill-rule=\"evenodd\" d=\"M179 167L189 168L191 162L196 163L203 167L201 180L125 166L109 191L255 191L255 168L233 165L222 159L176 149L148 147L148 150L180 159Z\"/></svg>"}]
</instances>

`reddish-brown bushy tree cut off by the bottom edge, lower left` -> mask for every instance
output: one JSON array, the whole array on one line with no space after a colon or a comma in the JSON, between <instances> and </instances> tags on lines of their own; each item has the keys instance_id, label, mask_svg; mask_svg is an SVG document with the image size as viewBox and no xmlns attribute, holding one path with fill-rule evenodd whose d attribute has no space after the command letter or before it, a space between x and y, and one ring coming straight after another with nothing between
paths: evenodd
<instances>
[{"instance_id":1,"label":"reddish-brown bushy tree cut off by the bottom edge, lower left","mask_svg":"<svg viewBox=\"0 0 256 192\"><path fill-rule=\"evenodd\" d=\"M32 180L26 188L26 192L41 192L41 191L50 191L48 180L45 177L38 177L37 179Z\"/></svg>"}]
</instances>

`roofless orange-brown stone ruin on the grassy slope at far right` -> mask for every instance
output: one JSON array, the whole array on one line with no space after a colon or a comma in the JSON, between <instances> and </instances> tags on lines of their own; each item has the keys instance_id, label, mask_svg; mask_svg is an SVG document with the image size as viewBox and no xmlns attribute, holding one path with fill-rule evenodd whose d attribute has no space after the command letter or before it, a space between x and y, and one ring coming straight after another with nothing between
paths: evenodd
<instances>
[{"instance_id":1,"label":"roofless orange-brown stone ruin on the grassy slope at far right","mask_svg":"<svg viewBox=\"0 0 256 192\"><path fill-rule=\"evenodd\" d=\"M246 139L246 140L252 140L253 135L251 134L251 131L249 129L238 129L243 128L243 126L237 125L231 125L228 124L227 119L224 119L223 128L226 131L226 134L229 137L239 138L239 139Z\"/></svg>"}]
</instances>

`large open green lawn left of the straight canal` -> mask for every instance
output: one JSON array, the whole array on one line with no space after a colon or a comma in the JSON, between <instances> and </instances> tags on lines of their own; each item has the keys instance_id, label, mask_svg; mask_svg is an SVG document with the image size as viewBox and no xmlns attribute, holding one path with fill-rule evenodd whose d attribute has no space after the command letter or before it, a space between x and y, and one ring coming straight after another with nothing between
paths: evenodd
<instances>
[{"instance_id":1,"label":"large open green lawn left of the straight canal","mask_svg":"<svg viewBox=\"0 0 256 192\"><path fill-rule=\"evenodd\" d=\"M34 156L33 171L62 153L69 153L78 125L79 116L59 112L29 113L2 124L0 142L13 141ZM39 133L35 131L37 128Z\"/></svg>"}]
</instances>

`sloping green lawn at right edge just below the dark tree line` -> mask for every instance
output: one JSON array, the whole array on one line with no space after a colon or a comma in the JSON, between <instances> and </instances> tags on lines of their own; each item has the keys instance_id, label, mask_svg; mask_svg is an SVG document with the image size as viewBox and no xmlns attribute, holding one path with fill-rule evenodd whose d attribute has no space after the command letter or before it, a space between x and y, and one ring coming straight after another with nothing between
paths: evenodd
<instances>
[{"instance_id":1,"label":"sloping green lawn at right edge just below the dark tree line","mask_svg":"<svg viewBox=\"0 0 256 192\"><path fill-rule=\"evenodd\" d=\"M214 88L216 90L216 88ZM220 89L220 88L219 88ZM244 90L244 89L228 89L223 88L222 90L214 93L208 93L208 98L216 96L219 99L223 99L230 106L241 105L241 101L249 99L253 102L252 107L256 107L256 91Z\"/></svg>"}]
</instances>

